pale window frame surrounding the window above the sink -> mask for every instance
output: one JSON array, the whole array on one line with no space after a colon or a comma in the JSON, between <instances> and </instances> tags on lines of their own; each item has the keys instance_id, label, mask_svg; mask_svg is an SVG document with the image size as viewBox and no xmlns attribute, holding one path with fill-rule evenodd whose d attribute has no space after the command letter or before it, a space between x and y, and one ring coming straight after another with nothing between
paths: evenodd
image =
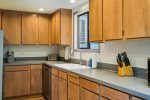
<instances>
[{"instance_id":1,"label":"pale window frame surrounding the window above the sink","mask_svg":"<svg viewBox=\"0 0 150 100\"><path fill-rule=\"evenodd\" d=\"M76 12L73 12L73 35L72 35L72 40L73 40L73 42L72 42L72 48L73 48L73 52L89 52L89 53L93 53L93 52L95 52L95 53L100 53L100 43L98 43L98 46L99 46L99 49L96 49L96 50L94 50L94 49L79 49L78 48L78 44L77 44L77 48L75 48L75 35L77 35L78 36L78 30L77 30L77 34L75 33L75 18L78 16L78 15L81 15L81 14L84 14L84 13L86 13L86 12L89 12L89 10L88 9L82 9L82 10L79 10L79 11L76 11ZM89 18L89 17L88 17ZM89 21L88 21L89 22ZM89 31L89 29L88 29L88 31ZM89 35L89 34L88 34ZM78 40L78 38L77 38L77 40ZM93 42L94 43L94 42ZM96 42L97 43L97 42Z\"/></svg>"}]
</instances>

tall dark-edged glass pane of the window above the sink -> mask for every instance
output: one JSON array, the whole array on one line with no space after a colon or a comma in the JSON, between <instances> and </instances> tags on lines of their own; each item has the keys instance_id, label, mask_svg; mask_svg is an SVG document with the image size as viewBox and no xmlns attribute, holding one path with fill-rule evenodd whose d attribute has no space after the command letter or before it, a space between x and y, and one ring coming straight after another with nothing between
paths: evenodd
<instances>
[{"instance_id":1,"label":"tall dark-edged glass pane of the window above the sink","mask_svg":"<svg viewBox=\"0 0 150 100\"><path fill-rule=\"evenodd\" d=\"M78 16L78 47L88 48L88 13Z\"/></svg>"}]
</instances>

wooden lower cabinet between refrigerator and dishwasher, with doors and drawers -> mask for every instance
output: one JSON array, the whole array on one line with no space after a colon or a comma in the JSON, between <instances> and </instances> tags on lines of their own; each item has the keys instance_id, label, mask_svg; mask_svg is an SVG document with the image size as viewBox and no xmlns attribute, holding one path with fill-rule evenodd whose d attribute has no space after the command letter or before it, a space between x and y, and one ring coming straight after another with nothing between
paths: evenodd
<instances>
[{"instance_id":1,"label":"wooden lower cabinet between refrigerator and dishwasher, with doors and drawers","mask_svg":"<svg viewBox=\"0 0 150 100\"><path fill-rule=\"evenodd\" d=\"M42 65L4 67L4 98L41 93Z\"/></svg>"}]
</instances>

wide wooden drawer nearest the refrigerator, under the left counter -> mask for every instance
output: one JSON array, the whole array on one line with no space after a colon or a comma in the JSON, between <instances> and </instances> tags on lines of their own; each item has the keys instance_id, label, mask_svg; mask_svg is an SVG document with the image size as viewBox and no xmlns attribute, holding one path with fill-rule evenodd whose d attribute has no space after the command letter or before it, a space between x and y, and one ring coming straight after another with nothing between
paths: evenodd
<instances>
[{"instance_id":1,"label":"wide wooden drawer nearest the refrigerator, under the left counter","mask_svg":"<svg viewBox=\"0 0 150 100\"><path fill-rule=\"evenodd\" d=\"M4 71L5 72L15 72L15 71L28 71L30 70L29 65L24 66L5 66Z\"/></svg>"}]
</instances>

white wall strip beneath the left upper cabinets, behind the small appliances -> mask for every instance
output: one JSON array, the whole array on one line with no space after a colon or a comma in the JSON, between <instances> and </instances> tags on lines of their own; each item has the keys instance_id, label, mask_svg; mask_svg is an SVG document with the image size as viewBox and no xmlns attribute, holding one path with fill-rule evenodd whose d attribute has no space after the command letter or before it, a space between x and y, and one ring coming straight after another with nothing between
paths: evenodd
<instances>
[{"instance_id":1,"label":"white wall strip beneath the left upper cabinets, behind the small appliances","mask_svg":"<svg viewBox=\"0 0 150 100\"><path fill-rule=\"evenodd\" d=\"M46 45L8 45L4 46L4 57L6 52L12 50L15 57L45 57L48 54L58 54L59 47Z\"/></svg>"}]
</instances>

